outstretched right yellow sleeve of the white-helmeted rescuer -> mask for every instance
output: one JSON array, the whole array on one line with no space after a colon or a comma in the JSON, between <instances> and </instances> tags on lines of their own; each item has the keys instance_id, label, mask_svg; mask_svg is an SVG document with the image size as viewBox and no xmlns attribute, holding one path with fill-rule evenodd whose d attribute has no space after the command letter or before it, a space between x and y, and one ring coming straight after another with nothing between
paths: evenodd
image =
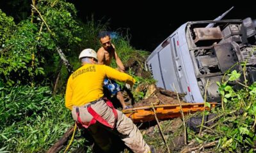
<instances>
[{"instance_id":1,"label":"outstretched right yellow sleeve of the white-helmeted rescuer","mask_svg":"<svg viewBox=\"0 0 256 153\"><path fill-rule=\"evenodd\" d=\"M116 69L110 68L109 66L104 65L104 71L106 73L106 76L108 78L111 78L113 80L118 80L120 82L125 82L127 84L135 84L135 79L132 78L130 75L127 75L126 73L122 73L120 71L117 71Z\"/></svg>"}]
</instances>

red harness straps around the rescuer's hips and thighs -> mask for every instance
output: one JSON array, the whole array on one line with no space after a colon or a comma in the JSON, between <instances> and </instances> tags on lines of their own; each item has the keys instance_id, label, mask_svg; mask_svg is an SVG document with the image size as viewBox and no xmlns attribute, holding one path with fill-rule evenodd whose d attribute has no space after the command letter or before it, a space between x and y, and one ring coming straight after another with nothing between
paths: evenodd
<instances>
[{"instance_id":1,"label":"red harness straps around the rescuer's hips and thighs","mask_svg":"<svg viewBox=\"0 0 256 153\"><path fill-rule=\"evenodd\" d=\"M91 105L87 106L87 110L88 112L92 115L93 119L90 121L90 123L88 125L84 125L83 122L81 121L81 118L79 116L79 111L76 112L77 115L77 121L84 127L84 128L89 128L89 126L95 124L97 121L100 122L100 124L103 124L104 126L107 126L111 129L115 128L115 124L116 124L116 120L117 120L117 112L113 106L113 104L111 103L111 101L109 101L109 99L104 99L104 101L106 101L106 104L112 108L112 111L115 115L115 122L113 124L113 126L111 126L106 120L104 120L97 112L95 112L92 108Z\"/></svg>"}]
</instances>

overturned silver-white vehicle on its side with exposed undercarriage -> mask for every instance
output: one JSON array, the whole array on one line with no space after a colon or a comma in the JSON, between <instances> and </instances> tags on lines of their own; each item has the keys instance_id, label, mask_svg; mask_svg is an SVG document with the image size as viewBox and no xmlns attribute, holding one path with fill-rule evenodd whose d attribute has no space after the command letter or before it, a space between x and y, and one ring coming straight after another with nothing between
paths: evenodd
<instances>
[{"instance_id":1,"label":"overturned silver-white vehicle on its side with exposed undercarriage","mask_svg":"<svg viewBox=\"0 0 256 153\"><path fill-rule=\"evenodd\" d=\"M150 54L147 67L158 87L186 93L185 101L204 102L207 80L207 101L220 101L216 82L230 67L241 71L237 62L246 62L249 83L256 80L255 27L252 18L187 22Z\"/></svg>"}]
</instances>

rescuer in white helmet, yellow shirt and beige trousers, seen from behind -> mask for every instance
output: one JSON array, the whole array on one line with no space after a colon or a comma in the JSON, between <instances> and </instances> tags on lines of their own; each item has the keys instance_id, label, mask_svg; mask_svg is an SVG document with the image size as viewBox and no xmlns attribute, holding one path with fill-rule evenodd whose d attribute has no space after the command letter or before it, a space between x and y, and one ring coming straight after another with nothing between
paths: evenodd
<instances>
[{"instance_id":1,"label":"rescuer in white helmet, yellow shirt and beige trousers, seen from behind","mask_svg":"<svg viewBox=\"0 0 256 153\"><path fill-rule=\"evenodd\" d=\"M117 71L105 65L98 65L97 54L87 48L81 52L79 59L83 63L68 78L65 96L65 106L72 110L72 117L77 124L89 128L96 143L102 150L108 151L109 144L102 140L102 135L97 127L103 124L107 129L116 129L125 145L133 152L150 152L150 147L143 140L140 130L132 120L113 108L108 99L103 98L103 82L108 77L129 85L135 83L130 75ZM115 130L109 130L115 131Z\"/></svg>"}]
</instances>

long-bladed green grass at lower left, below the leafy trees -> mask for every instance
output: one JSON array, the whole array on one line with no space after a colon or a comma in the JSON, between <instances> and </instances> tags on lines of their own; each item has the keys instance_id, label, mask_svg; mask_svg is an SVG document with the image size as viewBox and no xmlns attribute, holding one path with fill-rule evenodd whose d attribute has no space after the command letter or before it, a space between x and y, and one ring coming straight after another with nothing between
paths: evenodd
<instances>
[{"instance_id":1,"label":"long-bladed green grass at lower left, below the leafy trees","mask_svg":"<svg viewBox=\"0 0 256 153\"><path fill-rule=\"evenodd\" d=\"M0 150L46 152L74 124L63 96L52 97L49 87L2 91L0 109Z\"/></svg>"}]
</instances>

